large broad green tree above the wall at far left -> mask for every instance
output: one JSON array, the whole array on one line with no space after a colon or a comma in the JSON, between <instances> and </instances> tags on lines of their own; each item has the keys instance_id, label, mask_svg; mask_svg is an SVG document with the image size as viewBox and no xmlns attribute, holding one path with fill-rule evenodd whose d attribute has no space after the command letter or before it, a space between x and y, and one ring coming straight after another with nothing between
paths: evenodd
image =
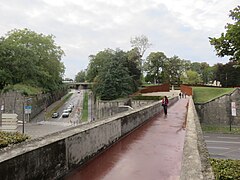
<instances>
[{"instance_id":1,"label":"large broad green tree above the wall at far left","mask_svg":"<svg viewBox=\"0 0 240 180\"><path fill-rule=\"evenodd\" d=\"M28 29L8 32L0 39L0 89L15 84L57 89L64 73L63 55L52 35Z\"/></svg>"}]
</instances>

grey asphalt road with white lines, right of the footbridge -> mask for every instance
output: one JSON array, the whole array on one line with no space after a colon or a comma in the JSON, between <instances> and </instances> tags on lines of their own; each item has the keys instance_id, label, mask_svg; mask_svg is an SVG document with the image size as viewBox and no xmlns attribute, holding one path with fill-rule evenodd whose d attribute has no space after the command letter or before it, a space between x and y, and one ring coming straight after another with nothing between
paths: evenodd
<instances>
[{"instance_id":1,"label":"grey asphalt road with white lines, right of the footbridge","mask_svg":"<svg viewBox=\"0 0 240 180\"><path fill-rule=\"evenodd\" d=\"M205 133L204 138L211 158L240 160L240 135Z\"/></svg>"}]
</instances>

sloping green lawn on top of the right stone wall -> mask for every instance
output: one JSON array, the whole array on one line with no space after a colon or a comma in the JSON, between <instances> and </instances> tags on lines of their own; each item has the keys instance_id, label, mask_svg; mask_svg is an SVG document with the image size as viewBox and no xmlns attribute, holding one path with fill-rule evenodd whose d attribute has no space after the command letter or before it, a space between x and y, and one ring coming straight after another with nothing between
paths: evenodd
<instances>
[{"instance_id":1,"label":"sloping green lawn on top of the right stone wall","mask_svg":"<svg viewBox=\"0 0 240 180\"><path fill-rule=\"evenodd\" d=\"M224 94L233 92L235 88L193 87L195 103L205 103Z\"/></svg>"}]
</instances>

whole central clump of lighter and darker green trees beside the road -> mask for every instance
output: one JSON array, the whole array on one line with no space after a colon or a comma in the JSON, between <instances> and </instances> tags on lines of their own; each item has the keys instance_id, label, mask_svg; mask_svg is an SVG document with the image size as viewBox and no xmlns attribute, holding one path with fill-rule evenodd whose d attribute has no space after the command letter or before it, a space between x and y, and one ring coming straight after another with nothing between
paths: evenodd
<instances>
[{"instance_id":1,"label":"whole central clump of lighter and darker green trees beside the road","mask_svg":"<svg viewBox=\"0 0 240 180\"><path fill-rule=\"evenodd\" d=\"M88 80L94 80L93 92L102 100L127 96L137 90L136 63L129 60L128 53L119 49L107 49L92 56L88 68Z\"/></svg>"}]
</instances>

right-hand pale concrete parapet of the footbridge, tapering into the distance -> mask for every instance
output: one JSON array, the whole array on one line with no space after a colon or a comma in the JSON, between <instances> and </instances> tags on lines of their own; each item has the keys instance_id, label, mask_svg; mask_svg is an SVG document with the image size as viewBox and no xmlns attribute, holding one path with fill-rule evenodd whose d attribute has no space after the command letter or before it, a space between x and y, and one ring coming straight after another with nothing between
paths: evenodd
<instances>
[{"instance_id":1,"label":"right-hand pale concrete parapet of the footbridge, tapering into the distance","mask_svg":"<svg viewBox=\"0 0 240 180\"><path fill-rule=\"evenodd\" d=\"M181 180L214 180L209 154L192 98L189 98Z\"/></svg>"}]
</instances>

